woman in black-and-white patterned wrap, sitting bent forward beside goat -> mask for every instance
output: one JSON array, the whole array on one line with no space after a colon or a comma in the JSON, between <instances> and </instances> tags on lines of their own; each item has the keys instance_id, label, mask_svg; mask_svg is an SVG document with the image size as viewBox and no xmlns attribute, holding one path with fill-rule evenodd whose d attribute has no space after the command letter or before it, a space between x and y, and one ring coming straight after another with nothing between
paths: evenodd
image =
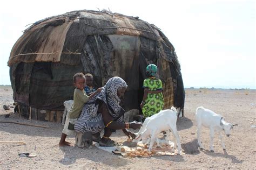
<instances>
[{"instance_id":1,"label":"woman in black-and-white patterned wrap, sitting bent forward beside goat","mask_svg":"<svg viewBox=\"0 0 256 170\"><path fill-rule=\"evenodd\" d=\"M91 132L93 140L100 146L115 146L110 136L114 130L122 129L129 138L135 134L129 128L139 129L142 123L124 123L124 110L119 106L120 98L124 96L126 82L120 77L112 77L107 81L102 91L85 103L82 112L75 124L78 133ZM100 138L100 131L104 135Z\"/></svg>"}]
</instances>

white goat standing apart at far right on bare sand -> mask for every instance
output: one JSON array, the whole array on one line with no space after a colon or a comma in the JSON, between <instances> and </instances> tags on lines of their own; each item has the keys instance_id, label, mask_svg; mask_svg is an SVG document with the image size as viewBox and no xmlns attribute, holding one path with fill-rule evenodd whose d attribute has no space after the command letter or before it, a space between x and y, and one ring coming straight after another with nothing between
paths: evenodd
<instances>
[{"instance_id":1,"label":"white goat standing apart at far right on bare sand","mask_svg":"<svg viewBox=\"0 0 256 170\"><path fill-rule=\"evenodd\" d=\"M223 136L221 135L221 131L224 130L227 137L230 136L230 130L233 129L233 126L231 123L226 123L221 115L215 114L212 110L205 109L204 107L197 108L196 112L196 120L197 120L197 140L199 147L201 149L204 149L204 146L201 144L200 139L200 133L201 133L201 126L205 126L210 129L210 150L211 152L214 152L213 150L213 138L214 138L214 131L219 134L219 138L221 140L221 145L223 147L223 150L226 150Z\"/></svg>"}]
</instances>

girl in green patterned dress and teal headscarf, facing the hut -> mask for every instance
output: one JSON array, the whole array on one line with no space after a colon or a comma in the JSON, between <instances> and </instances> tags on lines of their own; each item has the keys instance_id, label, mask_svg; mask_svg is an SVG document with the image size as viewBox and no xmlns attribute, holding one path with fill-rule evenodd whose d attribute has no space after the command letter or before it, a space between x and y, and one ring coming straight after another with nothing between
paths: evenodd
<instances>
[{"instance_id":1,"label":"girl in green patterned dress and teal headscarf, facing the hut","mask_svg":"<svg viewBox=\"0 0 256 170\"><path fill-rule=\"evenodd\" d=\"M140 108L142 108L145 117L150 117L164 108L164 97L162 94L163 84L161 80L156 77L156 65L148 65L146 75L147 79L143 82L144 96Z\"/></svg>"}]
</instances>

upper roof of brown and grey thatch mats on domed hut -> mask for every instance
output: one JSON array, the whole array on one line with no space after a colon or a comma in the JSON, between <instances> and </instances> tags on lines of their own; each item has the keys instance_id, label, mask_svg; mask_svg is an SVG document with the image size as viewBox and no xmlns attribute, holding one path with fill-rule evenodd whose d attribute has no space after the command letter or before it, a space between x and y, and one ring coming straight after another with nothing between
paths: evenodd
<instances>
[{"instance_id":1,"label":"upper roof of brown and grey thatch mats on domed hut","mask_svg":"<svg viewBox=\"0 0 256 170\"><path fill-rule=\"evenodd\" d=\"M75 43L71 40L78 36L86 37L95 34L142 36L161 41L163 45L170 43L168 40L163 40L167 38L156 26L140 20L138 17L109 11L71 11L39 20L26 29L12 48L8 65L35 61L78 65L80 49L65 49L65 44ZM170 46L173 48L171 44L164 45L167 48ZM171 61L176 55L174 48L169 51L173 53L163 53L163 57Z\"/></svg>"}]
</instances>

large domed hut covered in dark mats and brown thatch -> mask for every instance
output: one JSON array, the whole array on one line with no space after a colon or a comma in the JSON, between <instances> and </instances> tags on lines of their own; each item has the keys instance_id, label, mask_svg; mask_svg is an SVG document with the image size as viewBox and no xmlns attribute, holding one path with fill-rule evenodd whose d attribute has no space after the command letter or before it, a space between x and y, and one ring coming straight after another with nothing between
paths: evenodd
<instances>
[{"instance_id":1,"label":"large domed hut covered in dark mats and brown thatch","mask_svg":"<svg viewBox=\"0 0 256 170\"><path fill-rule=\"evenodd\" d=\"M122 77L128 84L124 108L138 109L150 63L159 68L165 108L183 109L174 47L156 26L138 17L80 10L39 20L17 40L8 61L14 101L50 111L64 110L63 102L72 99L77 72L93 74L96 87Z\"/></svg>"}]
</instances>

